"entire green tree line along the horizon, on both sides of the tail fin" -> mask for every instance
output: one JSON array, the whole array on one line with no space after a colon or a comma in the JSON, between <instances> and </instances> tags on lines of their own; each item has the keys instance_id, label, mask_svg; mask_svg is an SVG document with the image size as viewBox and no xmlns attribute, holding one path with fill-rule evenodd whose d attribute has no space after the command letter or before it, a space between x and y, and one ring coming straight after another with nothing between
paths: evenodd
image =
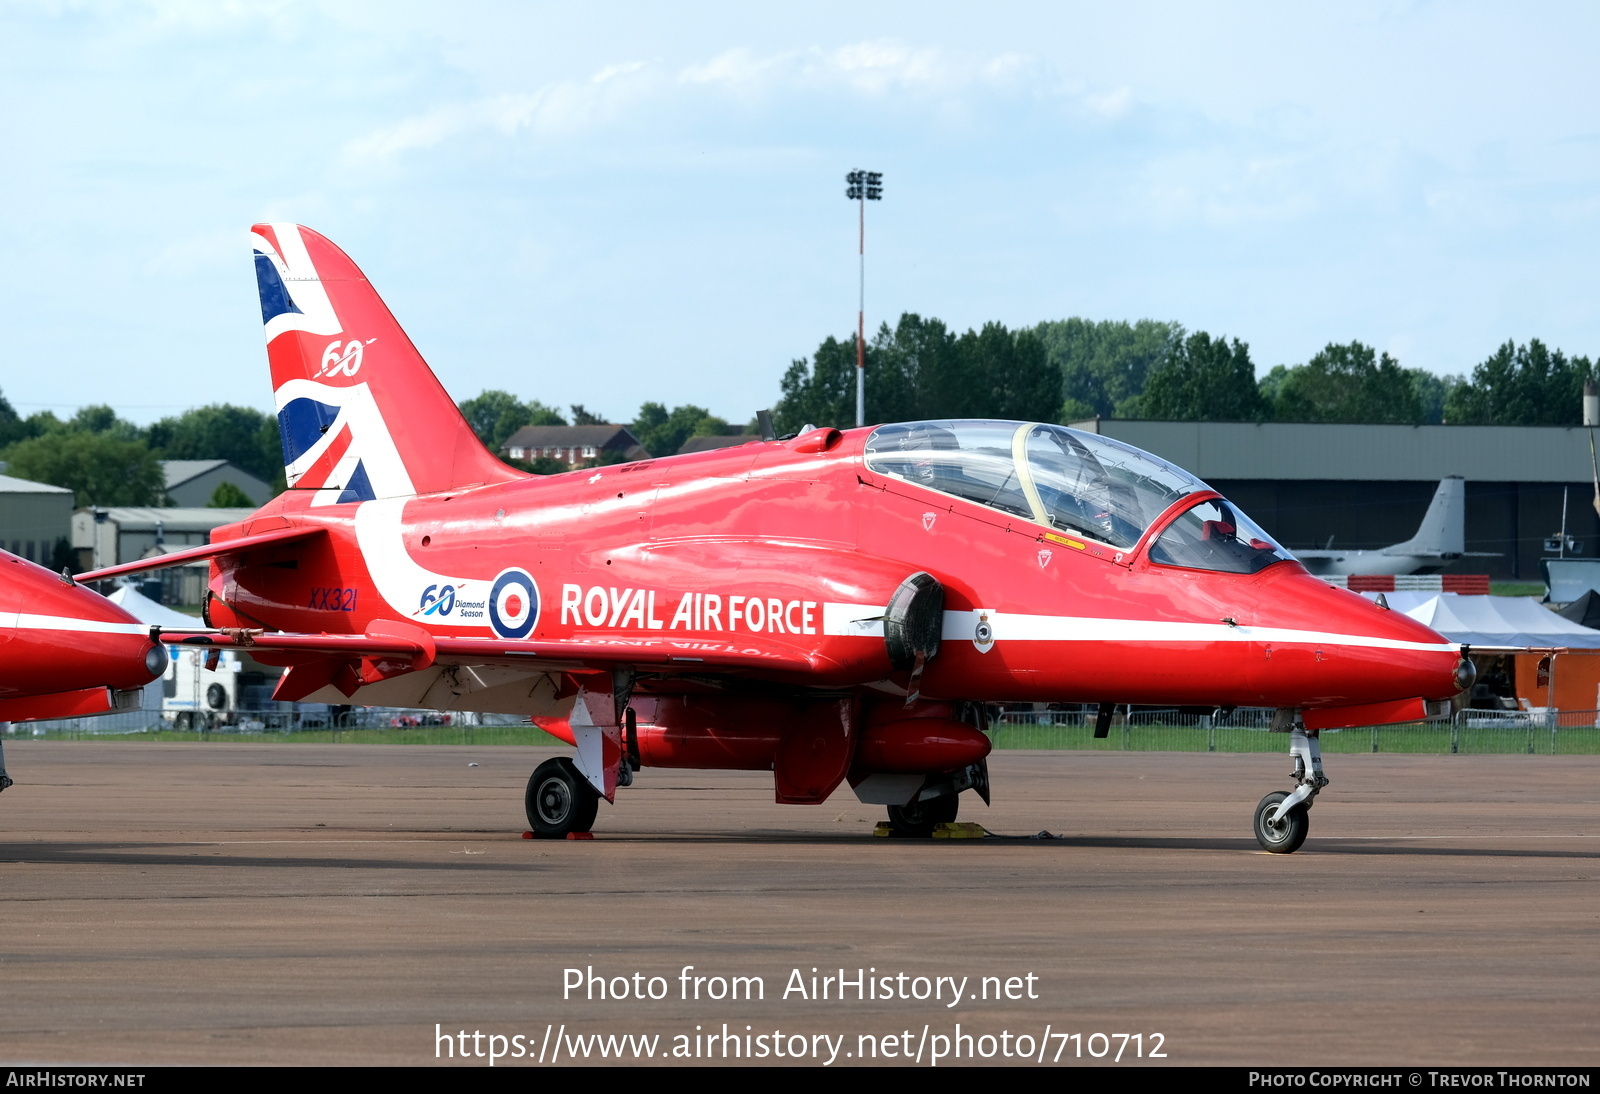
<instances>
[{"instance_id":1,"label":"entire green tree line along the horizon, on both sides of the tail fin","mask_svg":"<svg viewBox=\"0 0 1600 1094\"><path fill-rule=\"evenodd\" d=\"M1067 318L1008 329L986 323L957 333L938 318L906 313L866 345L869 422L923 417L1003 417L1075 422L1090 417L1243 422L1381 422L1472 425L1578 425L1582 387L1595 361L1539 339L1507 341L1470 374L1435 376L1402 368L1358 341L1330 342L1307 361L1256 374L1237 337L1186 331L1179 323ZM478 438L499 454L523 425L600 425L582 405L562 414L539 400L485 390L461 403ZM856 421L854 336L827 337L790 363L773 406L779 433ZM670 456L691 437L754 433L704 406L646 401L624 422L651 456ZM5 473L74 491L77 505L160 505L163 459L227 459L283 488L277 419L226 403L198 406L147 427L110 406L85 406L69 419L51 411L22 417L0 395ZM603 456L597 462L621 459ZM509 461L554 473L566 464ZM218 505L248 501L234 488Z\"/></svg>"}]
</instances>

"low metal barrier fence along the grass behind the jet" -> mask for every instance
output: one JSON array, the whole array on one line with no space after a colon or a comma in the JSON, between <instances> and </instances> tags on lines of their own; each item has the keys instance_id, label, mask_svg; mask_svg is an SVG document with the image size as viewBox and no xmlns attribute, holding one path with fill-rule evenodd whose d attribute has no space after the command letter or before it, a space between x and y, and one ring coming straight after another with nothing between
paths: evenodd
<instances>
[{"instance_id":1,"label":"low metal barrier fence along the grass behind the jet","mask_svg":"<svg viewBox=\"0 0 1600 1094\"><path fill-rule=\"evenodd\" d=\"M992 725L995 749L1094 752L1288 752L1272 733L1270 709L1227 717L1179 710L1118 710L1106 737L1094 736L1094 710L1011 710ZM14 737L56 741L258 741L371 744L554 744L514 715L354 707L350 710L250 710L210 723L178 725L152 710L64 718L13 726ZM1600 710L1461 710L1438 721L1323 729L1326 753L1525 753L1600 755Z\"/></svg>"}]
</instances>

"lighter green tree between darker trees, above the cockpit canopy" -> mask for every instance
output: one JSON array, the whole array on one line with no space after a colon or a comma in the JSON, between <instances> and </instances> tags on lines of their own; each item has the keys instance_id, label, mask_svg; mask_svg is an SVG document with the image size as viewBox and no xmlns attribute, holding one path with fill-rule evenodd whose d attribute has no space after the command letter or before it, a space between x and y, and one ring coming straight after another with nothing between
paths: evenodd
<instances>
[{"instance_id":1,"label":"lighter green tree between darker trees, above the cockpit canopy","mask_svg":"<svg viewBox=\"0 0 1600 1094\"><path fill-rule=\"evenodd\" d=\"M1126 417L1138 409L1150 369L1182 341L1179 323L1158 320L1051 320L1034 328L1061 373L1058 421Z\"/></svg>"}]
</instances>

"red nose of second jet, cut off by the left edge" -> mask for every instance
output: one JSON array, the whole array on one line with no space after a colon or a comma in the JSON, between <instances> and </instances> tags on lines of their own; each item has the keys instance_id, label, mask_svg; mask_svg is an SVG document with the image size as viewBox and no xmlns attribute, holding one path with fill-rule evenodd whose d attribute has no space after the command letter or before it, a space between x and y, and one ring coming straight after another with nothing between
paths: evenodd
<instances>
[{"instance_id":1,"label":"red nose of second jet, cut off by the left edge","mask_svg":"<svg viewBox=\"0 0 1600 1094\"><path fill-rule=\"evenodd\" d=\"M138 709L166 670L150 627L64 574L0 550L0 721ZM0 790L11 785L0 752Z\"/></svg>"}]
</instances>

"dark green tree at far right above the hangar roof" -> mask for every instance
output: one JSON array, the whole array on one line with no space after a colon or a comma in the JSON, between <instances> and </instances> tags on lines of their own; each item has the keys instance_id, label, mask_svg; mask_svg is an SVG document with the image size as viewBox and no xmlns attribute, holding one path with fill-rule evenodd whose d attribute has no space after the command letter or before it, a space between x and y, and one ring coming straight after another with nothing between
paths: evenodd
<instances>
[{"instance_id":1,"label":"dark green tree at far right above the hangar roof","mask_svg":"<svg viewBox=\"0 0 1600 1094\"><path fill-rule=\"evenodd\" d=\"M1566 357L1539 339L1506 342L1472 379L1451 389L1445 421L1456 425L1579 425L1584 381L1594 377L1587 357Z\"/></svg>"}]
</instances>

